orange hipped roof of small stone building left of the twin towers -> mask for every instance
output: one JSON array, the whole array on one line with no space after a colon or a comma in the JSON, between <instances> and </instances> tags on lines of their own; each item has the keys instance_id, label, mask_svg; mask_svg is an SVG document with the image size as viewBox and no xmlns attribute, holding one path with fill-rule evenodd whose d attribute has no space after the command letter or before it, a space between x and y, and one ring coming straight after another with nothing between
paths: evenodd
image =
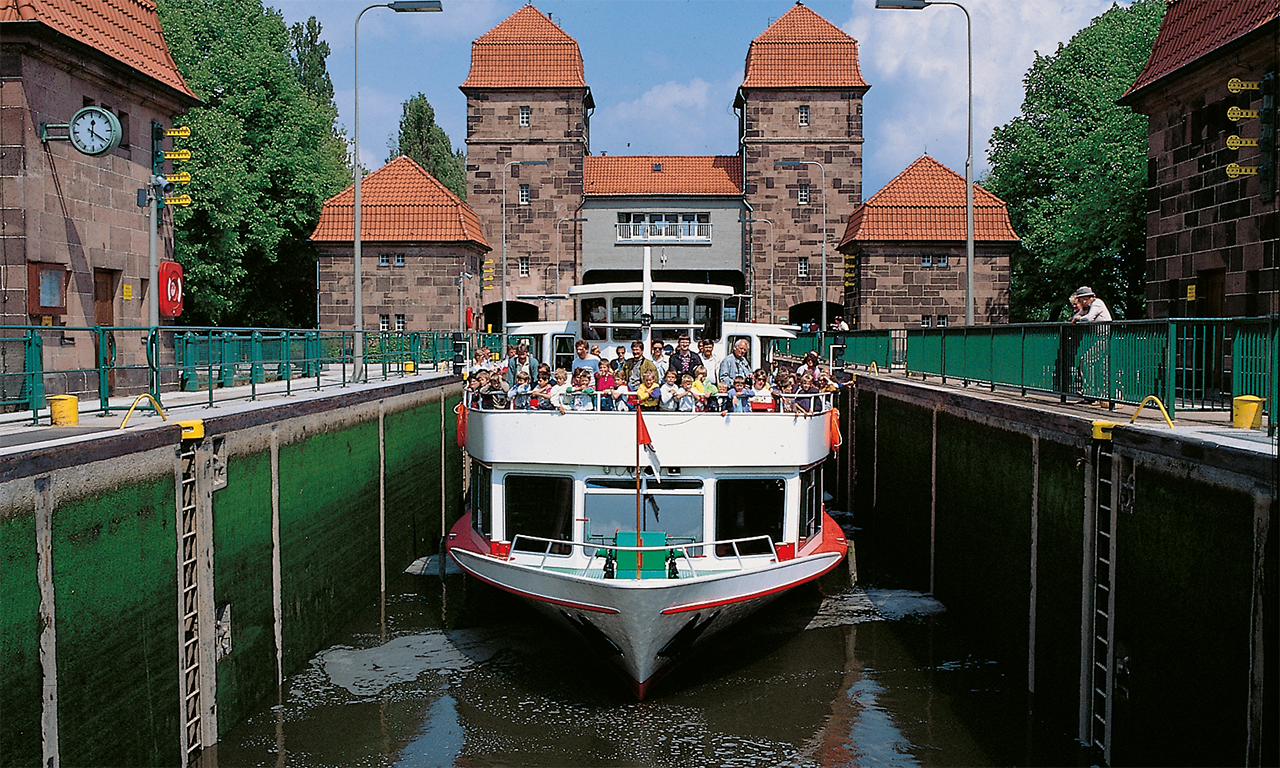
<instances>
[{"instance_id":1,"label":"orange hipped roof of small stone building left of the twin towers","mask_svg":"<svg viewBox=\"0 0 1280 768\"><path fill-rule=\"evenodd\" d=\"M344 242L355 234L355 186L324 202L315 242ZM447 243L471 241L489 250L471 206L402 155L360 183L362 242Z\"/></svg>"}]
</instances>

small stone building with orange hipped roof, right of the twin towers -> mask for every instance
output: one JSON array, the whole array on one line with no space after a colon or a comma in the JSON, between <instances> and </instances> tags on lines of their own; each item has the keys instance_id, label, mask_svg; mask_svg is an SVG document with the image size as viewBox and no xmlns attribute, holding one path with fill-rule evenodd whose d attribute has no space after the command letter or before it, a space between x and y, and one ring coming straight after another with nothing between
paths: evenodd
<instances>
[{"instance_id":1,"label":"small stone building with orange hipped roof, right of the twin towers","mask_svg":"<svg viewBox=\"0 0 1280 768\"><path fill-rule=\"evenodd\" d=\"M964 325L964 183L924 155L854 209L840 243L850 328ZM1009 257L1018 236L1005 202L978 184L973 205L973 320L1009 323Z\"/></svg>"}]
</instances>

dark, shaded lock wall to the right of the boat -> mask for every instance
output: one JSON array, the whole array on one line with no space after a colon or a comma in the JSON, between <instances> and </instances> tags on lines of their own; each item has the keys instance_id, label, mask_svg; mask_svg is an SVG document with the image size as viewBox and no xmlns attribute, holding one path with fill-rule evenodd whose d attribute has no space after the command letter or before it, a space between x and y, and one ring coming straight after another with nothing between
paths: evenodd
<instances>
[{"instance_id":1,"label":"dark, shaded lock wall to the right of the boat","mask_svg":"<svg viewBox=\"0 0 1280 768\"><path fill-rule=\"evenodd\" d=\"M1097 452L1112 449L1111 765L1267 764L1274 454L1123 426L1105 444L1085 419L897 380L849 397L861 580L933 593L1069 737L1092 662Z\"/></svg>"}]
</instances>

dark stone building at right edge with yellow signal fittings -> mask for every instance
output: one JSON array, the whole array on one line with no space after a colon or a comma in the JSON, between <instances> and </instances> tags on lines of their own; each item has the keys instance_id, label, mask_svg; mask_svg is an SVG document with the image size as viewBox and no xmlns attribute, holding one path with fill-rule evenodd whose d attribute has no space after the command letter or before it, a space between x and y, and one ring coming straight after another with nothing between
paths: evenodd
<instances>
[{"instance_id":1,"label":"dark stone building at right edge with yellow signal fittings","mask_svg":"<svg viewBox=\"0 0 1280 768\"><path fill-rule=\"evenodd\" d=\"M1262 110L1265 81L1280 77L1277 14L1275 0L1170 0L1151 58L1120 100L1148 118L1149 317L1280 312L1275 174L1265 187L1265 174L1249 173L1261 147L1231 148L1231 137L1261 138L1261 115L1230 116ZM1247 87L1233 92L1233 79ZM1233 175L1233 163L1247 173Z\"/></svg>"}]
</instances>

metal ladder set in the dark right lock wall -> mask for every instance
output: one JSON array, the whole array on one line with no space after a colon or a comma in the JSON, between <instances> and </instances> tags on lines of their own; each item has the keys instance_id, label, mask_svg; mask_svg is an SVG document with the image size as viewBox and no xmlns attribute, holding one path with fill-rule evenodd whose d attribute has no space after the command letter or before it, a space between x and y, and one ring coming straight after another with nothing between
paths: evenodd
<instances>
[{"instance_id":1,"label":"metal ladder set in the dark right lock wall","mask_svg":"<svg viewBox=\"0 0 1280 768\"><path fill-rule=\"evenodd\" d=\"M1112 447L1094 447L1093 488L1093 653L1089 675L1089 744L1111 763L1111 716L1115 695L1116 493Z\"/></svg>"}]
</instances>

